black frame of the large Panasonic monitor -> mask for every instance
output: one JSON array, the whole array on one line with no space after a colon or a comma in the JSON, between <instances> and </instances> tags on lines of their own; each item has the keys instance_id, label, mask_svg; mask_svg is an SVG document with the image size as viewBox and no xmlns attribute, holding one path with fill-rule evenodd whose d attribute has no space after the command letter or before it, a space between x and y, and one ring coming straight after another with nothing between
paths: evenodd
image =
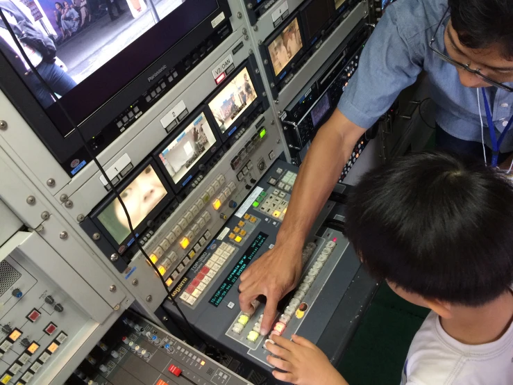
<instances>
[{"instance_id":1,"label":"black frame of the large Panasonic monitor","mask_svg":"<svg viewBox=\"0 0 513 385\"><path fill-rule=\"evenodd\" d=\"M228 0L217 0L217 3L217 10L208 17L205 17L203 22L192 28L187 35L167 49L159 58L156 58L155 61L149 64L140 74L137 74L131 81L128 81L124 88L121 88L116 95L111 97L108 101L105 101L102 106L79 125L79 129L86 140L90 140L101 133L112 120L118 117L121 111L125 110L127 106L130 106L134 100L141 97L152 85L158 83L164 76L163 73L155 77L151 83L149 83L147 79L149 76L155 74L162 65L167 65L167 68L178 65L192 53L191 47L196 48L198 44L201 44L212 32L223 28L226 24L230 24L229 18L232 13L228 6ZM212 21L221 15L221 13L224 13L226 22L221 22L215 28L212 28ZM51 154L56 158L58 163L60 163L61 167L70 177L74 177L74 175L70 173L73 167L70 167L68 164L72 156L78 156L78 154L80 154L81 158L87 160L87 163L91 161L76 130L65 137L62 136L50 116L47 115L44 108L40 106L32 92L1 52L0 72L5 74L5 76L2 76L0 90L6 94L12 104L19 110L24 120L28 122L47 149L51 151ZM121 133L121 135L123 135L123 133ZM99 153L96 153L96 156L98 154Z\"/></svg>"}]
</instances>

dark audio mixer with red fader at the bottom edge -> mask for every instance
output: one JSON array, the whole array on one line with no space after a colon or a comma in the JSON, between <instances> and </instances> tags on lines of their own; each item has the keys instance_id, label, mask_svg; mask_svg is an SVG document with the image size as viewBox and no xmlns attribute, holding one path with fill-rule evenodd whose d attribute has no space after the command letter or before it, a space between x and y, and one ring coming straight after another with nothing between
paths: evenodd
<instances>
[{"instance_id":1,"label":"dark audio mixer with red fader at the bottom edge","mask_svg":"<svg viewBox=\"0 0 513 385\"><path fill-rule=\"evenodd\" d=\"M246 385L194 347L126 311L66 384Z\"/></svg>"}]
</instances>

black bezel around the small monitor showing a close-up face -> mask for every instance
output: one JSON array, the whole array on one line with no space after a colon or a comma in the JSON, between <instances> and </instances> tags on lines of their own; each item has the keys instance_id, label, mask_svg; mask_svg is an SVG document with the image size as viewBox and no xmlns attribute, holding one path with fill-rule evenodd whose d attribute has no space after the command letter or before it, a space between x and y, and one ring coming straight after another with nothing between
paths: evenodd
<instances>
[{"instance_id":1,"label":"black bezel around the small monitor showing a close-up face","mask_svg":"<svg viewBox=\"0 0 513 385\"><path fill-rule=\"evenodd\" d=\"M162 170L160 170L160 167L158 167L158 163L155 162L155 159L153 158L147 158L145 161L140 163L133 172L129 175L129 177L126 177L121 183L119 183L118 186L115 186L116 190L121 193L130 183L132 183L140 174L143 172L146 167L151 165L153 167L153 170L159 177L160 181L162 182L162 186L167 191L167 195L162 198L160 202L153 208L153 210L150 211L148 215L146 215L146 218L141 221L140 224L138 224L136 227L134 227L135 234L139 234L139 237L144 236L146 234L147 229L150 228L148 225L148 222L153 222L160 213L173 201L175 194L174 191L171 189L171 186L169 186L169 183L167 182L167 179L165 175L162 173ZM108 242L117 250L117 252L122 255L128 250L137 240L133 239L132 234L128 234L128 236L121 242L117 243L117 240L110 235L110 232L106 227L103 226L103 223L99 220L99 215L112 203L114 200L117 199L114 192L111 192L106 199L103 199L103 201L94 208L94 210L90 213L89 217L94 223L94 225L99 229L101 234L106 237Z\"/></svg>"}]
</instances>

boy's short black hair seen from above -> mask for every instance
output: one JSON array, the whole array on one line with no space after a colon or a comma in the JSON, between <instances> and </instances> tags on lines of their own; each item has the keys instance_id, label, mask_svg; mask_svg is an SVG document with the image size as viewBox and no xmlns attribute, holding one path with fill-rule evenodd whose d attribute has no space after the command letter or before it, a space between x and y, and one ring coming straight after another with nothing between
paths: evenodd
<instances>
[{"instance_id":1,"label":"boy's short black hair seen from above","mask_svg":"<svg viewBox=\"0 0 513 385\"><path fill-rule=\"evenodd\" d=\"M346 236L373 277L480 306L513 282L513 185L482 161L413 153L362 177Z\"/></svg>"}]
</instances>

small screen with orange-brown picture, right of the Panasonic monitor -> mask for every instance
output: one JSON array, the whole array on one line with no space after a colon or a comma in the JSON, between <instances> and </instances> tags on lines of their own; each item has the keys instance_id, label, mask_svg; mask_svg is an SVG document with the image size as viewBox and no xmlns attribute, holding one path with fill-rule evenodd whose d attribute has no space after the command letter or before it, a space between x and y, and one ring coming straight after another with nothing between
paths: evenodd
<instances>
[{"instance_id":1,"label":"small screen with orange-brown picture, right of the Panasonic monitor","mask_svg":"<svg viewBox=\"0 0 513 385\"><path fill-rule=\"evenodd\" d=\"M275 76L283 71L301 48L303 48L303 40L301 40L301 33L299 32L298 19L295 17L280 35L269 44L268 49Z\"/></svg>"}]
</instances>

